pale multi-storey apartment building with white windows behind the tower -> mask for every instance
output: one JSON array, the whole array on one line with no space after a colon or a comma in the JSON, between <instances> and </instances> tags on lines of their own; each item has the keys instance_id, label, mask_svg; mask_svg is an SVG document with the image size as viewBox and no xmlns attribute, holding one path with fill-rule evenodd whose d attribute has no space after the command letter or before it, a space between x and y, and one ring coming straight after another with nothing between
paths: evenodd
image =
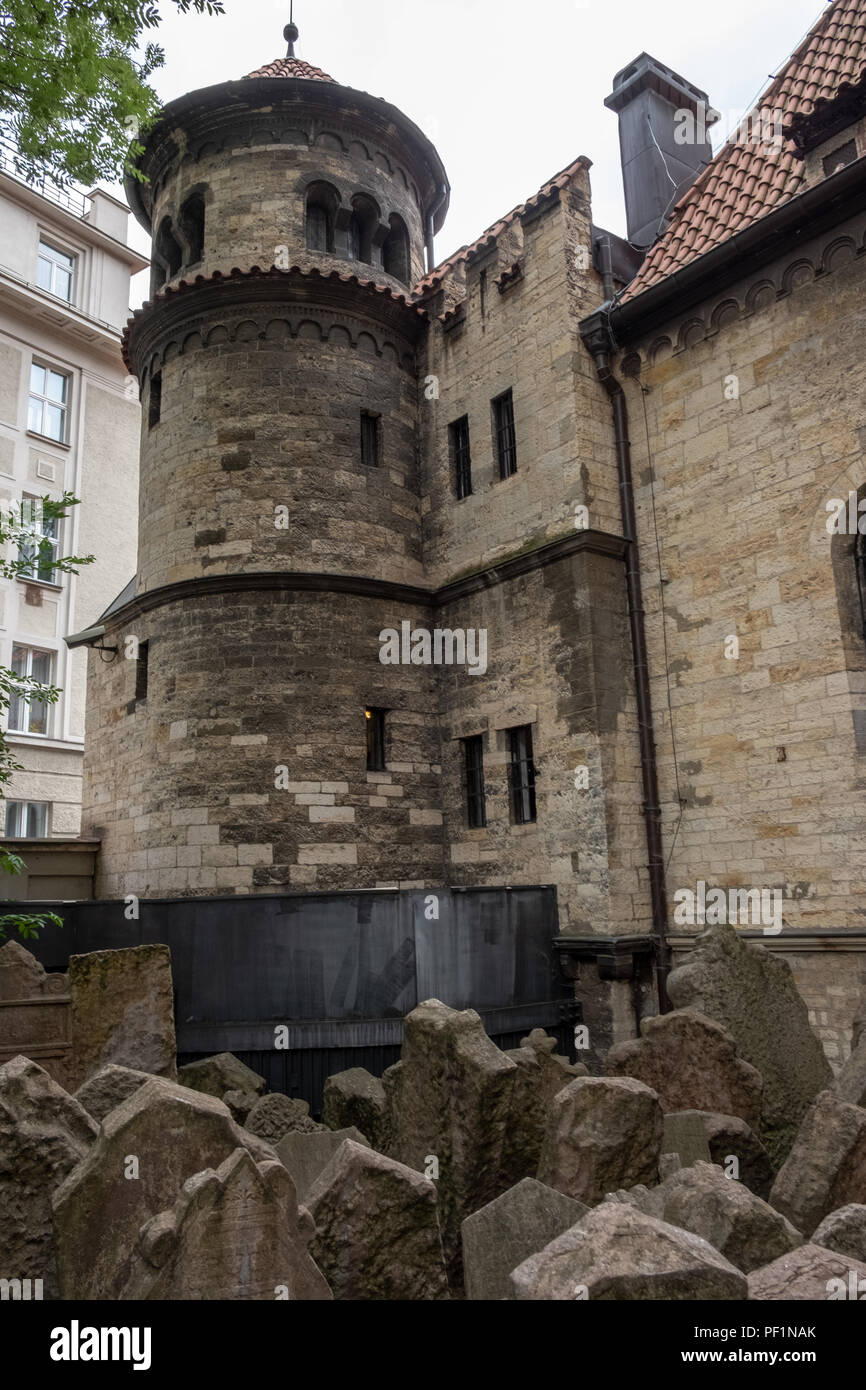
<instances>
[{"instance_id":1,"label":"pale multi-storey apartment building with white windows behind the tower","mask_svg":"<svg viewBox=\"0 0 866 1390\"><path fill-rule=\"evenodd\" d=\"M147 261L126 221L101 190L24 183L0 145L0 509L72 492L81 506L43 534L57 553L96 557L78 575L42 563L0 578L0 663L63 689L53 706L11 702L6 737L24 771L0 806L3 838L79 833L86 649L64 635L136 567L139 403L121 331Z\"/></svg>"}]
</instances>

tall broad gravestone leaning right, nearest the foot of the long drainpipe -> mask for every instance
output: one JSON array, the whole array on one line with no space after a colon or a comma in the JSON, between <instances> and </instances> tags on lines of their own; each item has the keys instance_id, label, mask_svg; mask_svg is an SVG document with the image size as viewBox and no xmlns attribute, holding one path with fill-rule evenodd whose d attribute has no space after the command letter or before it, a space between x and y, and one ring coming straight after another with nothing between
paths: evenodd
<instances>
[{"instance_id":1,"label":"tall broad gravestone leaning right, nearest the foot of the long drainpipe","mask_svg":"<svg viewBox=\"0 0 866 1390\"><path fill-rule=\"evenodd\" d=\"M670 973L667 994L674 1008L696 1009L721 1023L740 1056L760 1072L759 1138L778 1169L809 1105L833 1081L791 966L765 947L746 944L734 927L713 926Z\"/></svg>"}]
</instances>

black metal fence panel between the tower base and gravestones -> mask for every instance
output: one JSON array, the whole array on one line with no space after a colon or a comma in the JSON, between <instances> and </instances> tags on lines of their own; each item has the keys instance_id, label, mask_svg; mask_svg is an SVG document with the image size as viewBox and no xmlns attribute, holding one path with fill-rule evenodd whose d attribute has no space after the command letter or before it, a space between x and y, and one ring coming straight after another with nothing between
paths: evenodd
<instances>
[{"instance_id":1,"label":"black metal fence panel between the tower base and gravestones","mask_svg":"<svg viewBox=\"0 0 866 1390\"><path fill-rule=\"evenodd\" d=\"M331 1073L381 1074L399 1058L403 1016L421 999L477 1009L507 1047L546 1027L571 1055L575 1005L553 959L555 888L47 906L64 926L31 942L46 969L64 970L89 951L164 942L179 1058L235 1052L271 1090L314 1111ZM132 908L138 917L128 919ZM288 1047L275 1047L279 1026Z\"/></svg>"}]
</instances>

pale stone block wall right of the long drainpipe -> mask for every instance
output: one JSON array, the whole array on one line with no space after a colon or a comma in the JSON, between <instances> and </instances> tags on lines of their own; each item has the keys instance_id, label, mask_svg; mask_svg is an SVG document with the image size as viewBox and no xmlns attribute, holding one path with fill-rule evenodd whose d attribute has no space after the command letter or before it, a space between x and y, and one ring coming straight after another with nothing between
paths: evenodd
<instances>
[{"instance_id":1,"label":"pale stone block wall right of the long drainpipe","mask_svg":"<svg viewBox=\"0 0 866 1390\"><path fill-rule=\"evenodd\" d=\"M852 537L831 539L826 503L866 482L865 231L798 246L620 364L641 371L626 389L669 892L780 888L794 929L863 927L866 646Z\"/></svg>"}]
</instances>

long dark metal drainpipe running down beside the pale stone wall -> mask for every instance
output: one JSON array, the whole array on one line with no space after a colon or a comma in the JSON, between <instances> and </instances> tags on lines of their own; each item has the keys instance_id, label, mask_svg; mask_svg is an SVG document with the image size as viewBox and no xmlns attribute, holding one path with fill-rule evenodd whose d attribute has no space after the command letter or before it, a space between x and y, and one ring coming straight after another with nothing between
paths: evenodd
<instances>
[{"instance_id":1,"label":"long dark metal drainpipe running down beside the pale stone wall","mask_svg":"<svg viewBox=\"0 0 866 1390\"><path fill-rule=\"evenodd\" d=\"M631 626L631 652L638 703L641 777L644 783L644 823L646 827L646 849L649 855L652 929L656 942L656 988L659 992L659 1009L662 1013L667 1013L670 1011L670 1002L667 998L667 976L670 974L670 949L667 945L667 894L664 890L664 851L662 845L662 808L659 805L659 770L656 764L656 745L653 739L649 663L646 659L646 630L644 627L644 591L641 585L638 528L634 510L634 484L631 478L628 404L626 402L626 392L613 374L607 353L598 350L594 352L594 357L598 378L610 396L620 484L623 535L628 542L628 549L626 552L626 588L628 592L628 621Z\"/></svg>"}]
</instances>

